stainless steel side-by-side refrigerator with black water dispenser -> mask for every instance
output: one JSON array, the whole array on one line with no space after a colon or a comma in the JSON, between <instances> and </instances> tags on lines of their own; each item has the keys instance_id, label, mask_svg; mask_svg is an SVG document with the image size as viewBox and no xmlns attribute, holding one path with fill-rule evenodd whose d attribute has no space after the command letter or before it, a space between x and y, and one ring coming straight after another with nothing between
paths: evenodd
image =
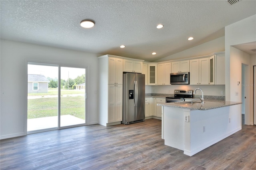
<instances>
[{"instance_id":1,"label":"stainless steel side-by-side refrigerator with black water dispenser","mask_svg":"<svg viewBox=\"0 0 256 170\"><path fill-rule=\"evenodd\" d=\"M145 75L123 74L123 121L129 125L145 119Z\"/></svg>"}]
</instances>

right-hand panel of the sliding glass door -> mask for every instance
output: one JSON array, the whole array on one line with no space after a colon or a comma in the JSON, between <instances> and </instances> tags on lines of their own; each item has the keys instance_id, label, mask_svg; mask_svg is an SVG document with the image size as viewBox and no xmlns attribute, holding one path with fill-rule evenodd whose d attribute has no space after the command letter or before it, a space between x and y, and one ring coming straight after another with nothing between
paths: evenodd
<instances>
[{"instance_id":1,"label":"right-hand panel of the sliding glass door","mask_svg":"<svg viewBox=\"0 0 256 170\"><path fill-rule=\"evenodd\" d=\"M85 69L60 67L60 127L85 123Z\"/></svg>"}]
</instances>

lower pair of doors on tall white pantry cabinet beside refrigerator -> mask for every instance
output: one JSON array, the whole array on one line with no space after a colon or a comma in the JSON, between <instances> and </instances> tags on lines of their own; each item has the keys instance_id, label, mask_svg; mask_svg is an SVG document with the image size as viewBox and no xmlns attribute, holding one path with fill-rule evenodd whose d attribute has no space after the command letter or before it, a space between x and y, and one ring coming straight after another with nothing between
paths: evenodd
<instances>
[{"instance_id":1,"label":"lower pair of doors on tall white pantry cabinet beside refrigerator","mask_svg":"<svg viewBox=\"0 0 256 170\"><path fill-rule=\"evenodd\" d=\"M123 86L108 85L108 122L122 121Z\"/></svg>"}]
</instances>

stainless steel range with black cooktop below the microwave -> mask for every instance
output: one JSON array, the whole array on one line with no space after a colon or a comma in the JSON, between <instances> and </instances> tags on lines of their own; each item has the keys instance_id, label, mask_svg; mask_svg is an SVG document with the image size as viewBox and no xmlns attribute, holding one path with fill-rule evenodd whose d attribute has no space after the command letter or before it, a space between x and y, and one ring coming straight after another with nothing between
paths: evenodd
<instances>
[{"instance_id":1,"label":"stainless steel range with black cooktop below the microwave","mask_svg":"<svg viewBox=\"0 0 256 170\"><path fill-rule=\"evenodd\" d=\"M166 97L166 103L182 102L185 98L193 98L193 90L174 90L174 97Z\"/></svg>"}]
</instances>

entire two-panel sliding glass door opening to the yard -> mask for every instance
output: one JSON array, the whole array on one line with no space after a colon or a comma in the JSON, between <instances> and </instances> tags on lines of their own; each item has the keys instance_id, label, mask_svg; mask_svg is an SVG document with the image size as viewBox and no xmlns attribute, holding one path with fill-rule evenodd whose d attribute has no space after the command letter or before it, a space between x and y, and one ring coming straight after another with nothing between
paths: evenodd
<instances>
[{"instance_id":1,"label":"entire two-panel sliding glass door opening to the yard","mask_svg":"<svg viewBox=\"0 0 256 170\"><path fill-rule=\"evenodd\" d=\"M86 124L86 68L28 62L27 133Z\"/></svg>"}]
</instances>

